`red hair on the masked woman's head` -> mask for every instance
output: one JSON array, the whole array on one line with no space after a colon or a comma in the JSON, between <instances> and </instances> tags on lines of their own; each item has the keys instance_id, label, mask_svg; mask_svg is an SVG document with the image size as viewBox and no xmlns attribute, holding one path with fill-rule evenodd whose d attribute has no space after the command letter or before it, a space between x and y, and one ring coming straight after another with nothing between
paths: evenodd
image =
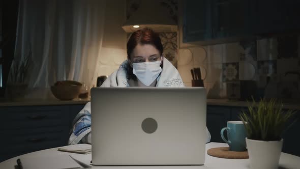
<instances>
[{"instance_id":1,"label":"red hair on the masked woman's head","mask_svg":"<svg viewBox=\"0 0 300 169\"><path fill-rule=\"evenodd\" d=\"M130 54L132 53L133 49L138 44L151 44L156 49L159 50L160 54L163 53L163 45L161 43L161 39L157 33L153 32L149 28L144 28L142 30L138 30L130 36L127 42L127 58L130 59Z\"/></svg>"}]
</instances>

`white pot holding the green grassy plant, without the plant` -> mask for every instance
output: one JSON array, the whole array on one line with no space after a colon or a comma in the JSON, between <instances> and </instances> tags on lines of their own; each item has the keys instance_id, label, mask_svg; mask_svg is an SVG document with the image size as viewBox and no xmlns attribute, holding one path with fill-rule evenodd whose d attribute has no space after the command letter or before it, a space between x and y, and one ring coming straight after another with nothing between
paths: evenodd
<instances>
[{"instance_id":1,"label":"white pot holding the green grassy plant, without the plant","mask_svg":"<svg viewBox=\"0 0 300 169\"><path fill-rule=\"evenodd\" d=\"M250 158L250 168L278 168L283 139L280 141L262 141L246 137L246 144Z\"/></svg>"}]
</instances>

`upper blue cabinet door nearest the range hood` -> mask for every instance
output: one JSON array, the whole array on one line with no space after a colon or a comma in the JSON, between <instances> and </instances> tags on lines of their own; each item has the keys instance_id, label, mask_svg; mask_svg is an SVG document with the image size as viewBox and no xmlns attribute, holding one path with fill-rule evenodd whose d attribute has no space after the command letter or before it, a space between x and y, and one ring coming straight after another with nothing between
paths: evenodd
<instances>
[{"instance_id":1,"label":"upper blue cabinet door nearest the range hood","mask_svg":"<svg viewBox=\"0 0 300 169\"><path fill-rule=\"evenodd\" d=\"M212 39L211 1L184 1L183 42Z\"/></svg>"}]
</instances>

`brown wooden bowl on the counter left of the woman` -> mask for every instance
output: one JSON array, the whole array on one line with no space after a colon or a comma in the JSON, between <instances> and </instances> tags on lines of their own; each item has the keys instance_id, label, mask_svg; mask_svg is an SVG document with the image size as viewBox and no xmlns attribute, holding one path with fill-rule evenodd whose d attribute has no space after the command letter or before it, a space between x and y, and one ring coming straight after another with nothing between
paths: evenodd
<instances>
[{"instance_id":1,"label":"brown wooden bowl on the counter left of the woman","mask_svg":"<svg viewBox=\"0 0 300 169\"><path fill-rule=\"evenodd\" d=\"M51 86L51 92L59 100L73 100L79 96L81 86L77 81L61 81Z\"/></svg>"}]
</instances>

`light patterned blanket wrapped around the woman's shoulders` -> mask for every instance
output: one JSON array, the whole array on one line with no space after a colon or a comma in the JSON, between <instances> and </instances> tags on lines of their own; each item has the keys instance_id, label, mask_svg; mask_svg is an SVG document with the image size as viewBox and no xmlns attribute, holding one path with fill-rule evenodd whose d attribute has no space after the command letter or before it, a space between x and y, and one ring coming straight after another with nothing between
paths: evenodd
<instances>
[{"instance_id":1,"label":"light patterned blanket wrapped around the woman's shoulders","mask_svg":"<svg viewBox=\"0 0 300 169\"><path fill-rule=\"evenodd\" d=\"M123 62L118 70L114 71L101 85L101 87L129 87L128 84L128 61ZM177 69L167 60L163 59L163 69L157 78L156 87L185 87ZM211 135L208 134L208 142ZM91 144L91 102L86 103L73 121L72 133L69 138L69 145L78 143ZM86 134L88 137L86 138ZM86 139L86 140L85 140Z\"/></svg>"}]
</instances>

